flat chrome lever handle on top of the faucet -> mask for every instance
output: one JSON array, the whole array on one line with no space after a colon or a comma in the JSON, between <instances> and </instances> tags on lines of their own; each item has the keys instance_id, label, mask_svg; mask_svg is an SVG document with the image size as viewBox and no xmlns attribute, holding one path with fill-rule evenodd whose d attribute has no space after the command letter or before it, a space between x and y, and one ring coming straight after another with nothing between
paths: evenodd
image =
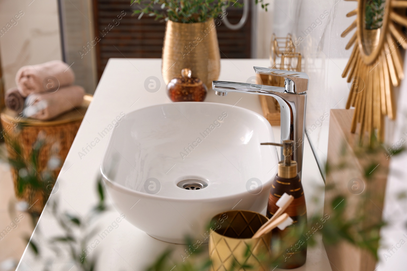
<instances>
[{"instance_id":1,"label":"flat chrome lever handle on top of the faucet","mask_svg":"<svg viewBox=\"0 0 407 271\"><path fill-rule=\"evenodd\" d=\"M285 71L283 69L271 69L256 66L254 66L253 68L256 74L280 76L293 81L294 93L302 93L308 90L309 77L305 72L293 72Z\"/></svg>"}]
</instances>

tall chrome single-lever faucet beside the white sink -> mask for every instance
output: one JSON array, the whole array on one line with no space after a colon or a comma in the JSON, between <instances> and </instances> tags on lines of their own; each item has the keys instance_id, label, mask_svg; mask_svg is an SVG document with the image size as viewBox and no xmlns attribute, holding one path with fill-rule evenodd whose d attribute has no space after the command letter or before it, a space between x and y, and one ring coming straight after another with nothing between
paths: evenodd
<instances>
[{"instance_id":1,"label":"tall chrome single-lever faucet beside the white sink","mask_svg":"<svg viewBox=\"0 0 407 271\"><path fill-rule=\"evenodd\" d=\"M281 69L261 67L253 68L257 74L284 77L285 87L213 81L212 89L216 91L216 94L219 96L226 96L228 92L240 92L268 95L276 98L281 109L281 142L287 139L294 141L292 159L297 161L297 170L301 178L305 132L305 91L308 90L309 77L304 72L284 71ZM280 157L283 157L282 151L283 150L281 150Z\"/></svg>"}]
</instances>

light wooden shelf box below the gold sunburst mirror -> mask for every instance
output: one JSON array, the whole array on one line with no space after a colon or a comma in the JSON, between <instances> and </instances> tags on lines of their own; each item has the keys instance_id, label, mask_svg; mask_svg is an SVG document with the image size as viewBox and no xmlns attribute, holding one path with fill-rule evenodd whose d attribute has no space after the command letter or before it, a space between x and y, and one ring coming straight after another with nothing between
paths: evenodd
<instances>
[{"instance_id":1,"label":"light wooden shelf box below the gold sunburst mirror","mask_svg":"<svg viewBox=\"0 0 407 271\"><path fill-rule=\"evenodd\" d=\"M359 152L359 135L350 132L353 111L353 109L331 109L330 111L327 155L330 170L326 176L326 187L335 188L325 191L324 214L331 215L333 209L330 203L333 198L344 195L347 219L356 217L356 210L363 208L363 214L368 214L362 222L363 226L376 225L382 219L381 210L383 210L389 160L384 150L373 154ZM374 171L374 173L371 172L372 177L366 179L366 168L372 165L372 161L378 166L372 170ZM341 166L344 163L346 165ZM370 200L363 201L366 195L369 195ZM375 270L376 260L365 249L345 241L335 245L329 245L324 241L324 245L333 271Z\"/></svg>"}]
</instances>

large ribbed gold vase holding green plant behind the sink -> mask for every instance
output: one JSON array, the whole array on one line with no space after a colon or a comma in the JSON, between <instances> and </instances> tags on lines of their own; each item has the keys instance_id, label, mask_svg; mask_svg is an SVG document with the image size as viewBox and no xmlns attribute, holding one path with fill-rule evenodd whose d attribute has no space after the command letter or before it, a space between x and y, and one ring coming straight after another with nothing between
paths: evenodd
<instances>
[{"instance_id":1,"label":"large ribbed gold vase holding green plant behind the sink","mask_svg":"<svg viewBox=\"0 0 407 271\"><path fill-rule=\"evenodd\" d=\"M212 88L221 68L214 20L203 23L178 23L168 20L162 48L162 77L168 84L189 68L192 77Z\"/></svg>"}]
</instances>

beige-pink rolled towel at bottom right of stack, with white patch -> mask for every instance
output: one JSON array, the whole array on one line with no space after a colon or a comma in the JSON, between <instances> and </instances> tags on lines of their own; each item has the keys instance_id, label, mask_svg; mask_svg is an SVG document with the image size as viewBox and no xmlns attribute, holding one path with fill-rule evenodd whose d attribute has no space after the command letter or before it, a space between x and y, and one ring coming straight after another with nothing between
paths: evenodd
<instances>
[{"instance_id":1,"label":"beige-pink rolled towel at bottom right of stack, with white patch","mask_svg":"<svg viewBox=\"0 0 407 271\"><path fill-rule=\"evenodd\" d=\"M33 119L53 119L80 106L84 94L80 86L62 87L54 93L33 93L28 95L23 113Z\"/></svg>"}]
</instances>

